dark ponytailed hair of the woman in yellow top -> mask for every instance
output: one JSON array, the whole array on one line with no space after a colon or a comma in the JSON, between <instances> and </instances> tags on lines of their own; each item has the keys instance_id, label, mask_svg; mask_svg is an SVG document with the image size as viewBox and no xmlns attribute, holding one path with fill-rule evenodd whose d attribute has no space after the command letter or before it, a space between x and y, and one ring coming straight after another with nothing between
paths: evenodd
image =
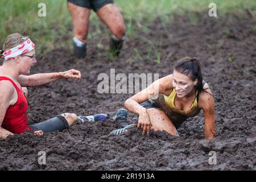
<instances>
[{"instance_id":1,"label":"dark ponytailed hair of the woman in yellow top","mask_svg":"<svg viewBox=\"0 0 256 182\"><path fill-rule=\"evenodd\" d=\"M196 57L184 57L177 61L177 64L174 67L175 71L187 75L191 78L192 81L196 79L196 89L201 93L203 89L203 76L201 73L201 64L199 59Z\"/></svg>"}]
</instances>

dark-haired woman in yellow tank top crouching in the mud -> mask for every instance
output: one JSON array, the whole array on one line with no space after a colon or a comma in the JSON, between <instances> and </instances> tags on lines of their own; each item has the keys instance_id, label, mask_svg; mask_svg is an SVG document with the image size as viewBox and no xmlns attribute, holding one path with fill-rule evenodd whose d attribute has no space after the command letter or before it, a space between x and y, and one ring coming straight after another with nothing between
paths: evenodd
<instances>
[{"instance_id":1,"label":"dark-haired woman in yellow tank top crouching in the mud","mask_svg":"<svg viewBox=\"0 0 256 182\"><path fill-rule=\"evenodd\" d=\"M173 74L156 80L127 99L125 107L139 115L137 127L143 134L153 129L165 130L171 135L178 135L176 128L203 109L205 138L215 137L214 100L196 58L179 60Z\"/></svg>"}]
</instances>

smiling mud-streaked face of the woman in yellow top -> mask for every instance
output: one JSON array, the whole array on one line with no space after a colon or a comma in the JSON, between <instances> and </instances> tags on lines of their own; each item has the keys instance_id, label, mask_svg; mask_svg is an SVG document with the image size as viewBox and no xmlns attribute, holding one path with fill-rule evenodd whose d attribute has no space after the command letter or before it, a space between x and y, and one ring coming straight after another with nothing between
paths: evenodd
<instances>
[{"instance_id":1,"label":"smiling mud-streaked face of the woman in yellow top","mask_svg":"<svg viewBox=\"0 0 256 182\"><path fill-rule=\"evenodd\" d=\"M197 79L192 81L187 75L177 72L174 70L172 85L176 90L177 97L185 97L192 92L194 86L197 84Z\"/></svg>"}]
</instances>

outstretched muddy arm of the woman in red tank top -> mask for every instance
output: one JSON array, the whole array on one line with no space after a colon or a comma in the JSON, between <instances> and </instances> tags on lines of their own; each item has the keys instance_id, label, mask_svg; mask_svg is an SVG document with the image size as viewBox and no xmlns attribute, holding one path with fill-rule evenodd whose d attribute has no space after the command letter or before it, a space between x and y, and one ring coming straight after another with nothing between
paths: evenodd
<instances>
[{"instance_id":1,"label":"outstretched muddy arm of the woman in red tank top","mask_svg":"<svg viewBox=\"0 0 256 182\"><path fill-rule=\"evenodd\" d=\"M22 86L39 86L59 80L60 78L73 78L74 80L79 80L81 78L81 73L76 69L71 69L69 71L57 73L39 73L29 76L20 75L18 77L18 82Z\"/></svg>"}]
</instances>

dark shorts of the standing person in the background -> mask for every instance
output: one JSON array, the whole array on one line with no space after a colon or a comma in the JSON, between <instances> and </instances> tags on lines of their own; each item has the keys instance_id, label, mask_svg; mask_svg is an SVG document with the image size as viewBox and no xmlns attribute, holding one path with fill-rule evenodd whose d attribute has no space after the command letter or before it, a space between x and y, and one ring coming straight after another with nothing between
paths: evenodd
<instances>
[{"instance_id":1,"label":"dark shorts of the standing person in the background","mask_svg":"<svg viewBox=\"0 0 256 182\"><path fill-rule=\"evenodd\" d=\"M113 0L68 0L68 2L81 6L86 7L88 9L93 9L93 11L98 11L101 7L108 5L110 3L114 3Z\"/></svg>"}]
</instances>

